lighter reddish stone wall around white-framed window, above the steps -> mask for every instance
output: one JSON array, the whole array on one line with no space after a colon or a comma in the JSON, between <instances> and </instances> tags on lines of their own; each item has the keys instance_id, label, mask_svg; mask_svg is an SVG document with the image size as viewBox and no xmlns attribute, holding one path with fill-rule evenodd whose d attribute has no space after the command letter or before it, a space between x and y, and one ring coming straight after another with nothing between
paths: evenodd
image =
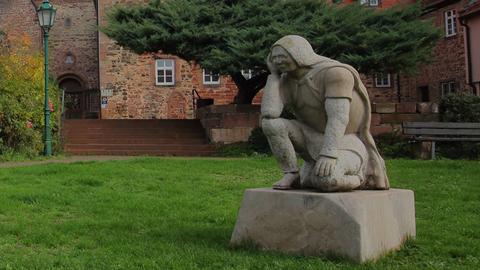
<instances>
[{"instance_id":1,"label":"lighter reddish stone wall around white-framed window, above the steps","mask_svg":"<svg viewBox=\"0 0 480 270\"><path fill-rule=\"evenodd\" d=\"M100 25L104 26L105 12L114 4L141 3L142 1L99 1ZM173 55L162 53L137 55L115 44L100 33L100 87L112 90L108 104L102 108L102 118L173 118L194 117L195 89L202 99L212 98L214 104L230 104L236 95L235 84L221 77L218 85L204 85L202 68ZM155 84L155 60L175 60L175 85Z\"/></svg>"}]
</instances>

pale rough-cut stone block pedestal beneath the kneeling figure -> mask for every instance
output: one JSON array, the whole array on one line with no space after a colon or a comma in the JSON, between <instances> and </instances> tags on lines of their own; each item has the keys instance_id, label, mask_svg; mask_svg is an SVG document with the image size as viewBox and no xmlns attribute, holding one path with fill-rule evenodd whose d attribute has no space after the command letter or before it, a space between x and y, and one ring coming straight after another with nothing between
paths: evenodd
<instances>
[{"instance_id":1,"label":"pale rough-cut stone block pedestal beneath the kneeling figure","mask_svg":"<svg viewBox=\"0 0 480 270\"><path fill-rule=\"evenodd\" d=\"M415 237L411 190L317 193L246 190L231 245L375 260Z\"/></svg>"}]
</instances>

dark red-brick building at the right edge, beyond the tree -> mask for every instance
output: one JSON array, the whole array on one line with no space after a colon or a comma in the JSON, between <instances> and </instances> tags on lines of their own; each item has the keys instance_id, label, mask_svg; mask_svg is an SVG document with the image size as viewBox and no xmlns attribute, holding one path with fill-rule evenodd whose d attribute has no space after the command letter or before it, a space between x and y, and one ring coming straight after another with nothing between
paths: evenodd
<instances>
[{"instance_id":1,"label":"dark red-brick building at the right edge, beyond the tree","mask_svg":"<svg viewBox=\"0 0 480 270\"><path fill-rule=\"evenodd\" d=\"M421 67L418 76L403 77L401 85L408 92L406 96L411 101L438 102L443 96L455 92L472 92L479 94L473 87L473 82L480 79L478 60L476 66L468 68L472 63L473 56L477 56L480 47L479 43L471 44L470 53L467 48L466 27L463 26L465 18L459 15L464 13L475 1L467 0L427 0L424 1L424 18L431 19L437 27L443 30L443 36L438 42L434 59L430 64ZM479 28L475 18L478 13L466 15L472 24L475 24L477 31L470 30L470 41L478 39ZM476 35L476 36L474 36ZM476 68L476 69L475 69ZM472 81L469 83L469 72ZM477 83L478 84L478 83ZM478 87L478 86L477 86Z\"/></svg>"}]
</instances>

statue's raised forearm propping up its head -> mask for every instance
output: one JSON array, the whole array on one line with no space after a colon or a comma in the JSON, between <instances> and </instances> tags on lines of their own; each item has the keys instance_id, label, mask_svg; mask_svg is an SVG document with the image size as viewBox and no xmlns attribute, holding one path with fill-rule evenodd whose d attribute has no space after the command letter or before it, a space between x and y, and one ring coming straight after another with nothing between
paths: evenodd
<instances>
[{"instance_id":1,"label":"statue's raised forearm propping up its head","mask_svg":"<svg viewBox=\"0 0 480 270\"><path fill-rule=\"evenodd\" d=\"M261 118L279 118L283 110L283 100L280 93L280 76L271 74L263 90Z\"/></svg>"}]
</instances>

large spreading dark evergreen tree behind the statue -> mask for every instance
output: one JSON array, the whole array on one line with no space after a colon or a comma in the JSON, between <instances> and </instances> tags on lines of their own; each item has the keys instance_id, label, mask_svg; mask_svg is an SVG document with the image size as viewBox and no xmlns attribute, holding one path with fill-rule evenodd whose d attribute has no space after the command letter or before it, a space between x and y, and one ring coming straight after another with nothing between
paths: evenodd
<instances>
[{"instance_id":1,"label":"large spreading dark evergreen tree behind the statue","mask_svg":"<svg viewBox=\"0 0 480 270\"><path fill-rule=\"evenodd\" d=\"M245 104L265 85L270 46L288 34L364 74L414 72L440 36L420 16L419 4L374 10L321 0L151 0L116 6L102 30L137 53L161 50L230 75L236 102ZM242 69L256 76L246 80Z\"/></svg>"}]
</instances>

